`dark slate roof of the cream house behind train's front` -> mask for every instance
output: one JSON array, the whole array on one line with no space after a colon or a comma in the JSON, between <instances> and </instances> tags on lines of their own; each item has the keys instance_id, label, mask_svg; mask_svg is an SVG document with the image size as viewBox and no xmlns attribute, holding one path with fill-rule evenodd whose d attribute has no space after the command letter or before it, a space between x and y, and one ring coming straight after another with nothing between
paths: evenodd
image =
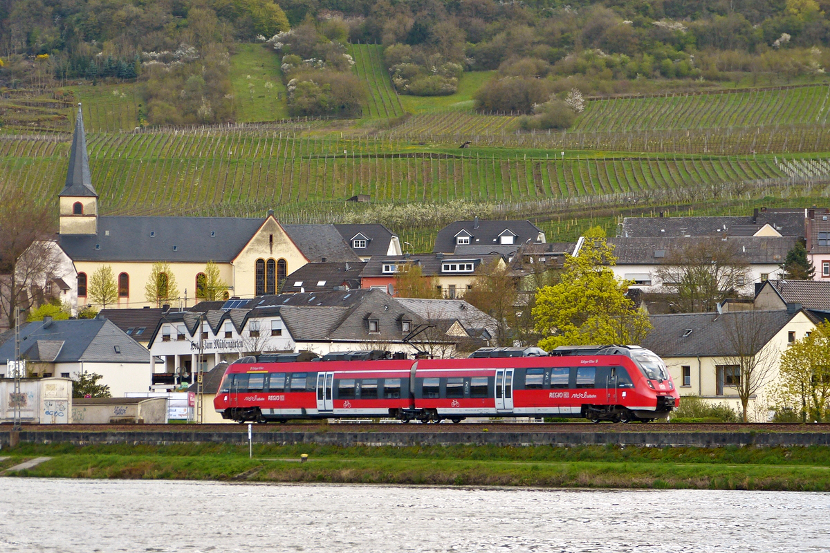
<instances>
[{"instance_id":1,"label":"dark slate roof of the cream house behind train's front","mask_svg":"<svg viewBox=\"0 0 830 553\"><path fill-rule=\"evenodd\" d=\"M652 315L654 327L642 341L660 357L720 357L735 354L730 351L730 328L759 327L761 347L789 323L800 311L790 313L786 309L774 311L735 311L729 313L679 313ZM690 331L688 336L683 337ZM753 342L747 342L753 343ZM760 349L760 347L759 347Z\"/></svg>"}]
</instances>

